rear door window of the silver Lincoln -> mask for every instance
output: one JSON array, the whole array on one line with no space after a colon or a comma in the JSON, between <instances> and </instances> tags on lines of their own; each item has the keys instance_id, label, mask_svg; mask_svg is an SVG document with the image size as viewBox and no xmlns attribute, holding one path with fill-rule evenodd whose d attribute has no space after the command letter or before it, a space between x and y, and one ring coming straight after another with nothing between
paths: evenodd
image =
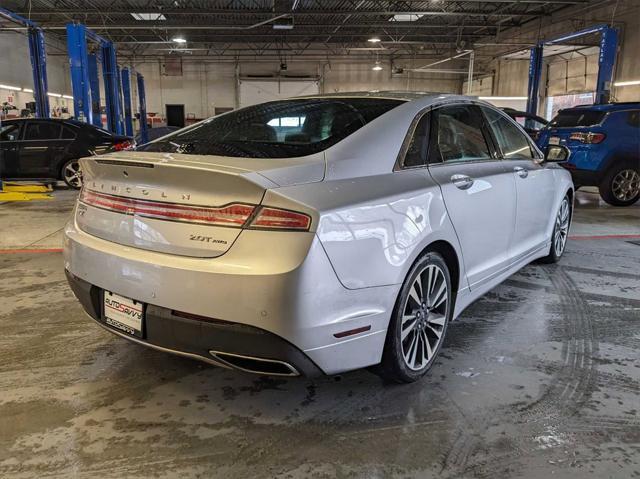
<instances>
[{"instance_id":1,"label":"rear door window of the silver Lincoln","mask_svg":"<svg viewBox=\"0 0 640 479\"><path fill-rule=\"evenodd\" d=\"M431 113L430 163L491 159L480 110L474 105L445 106Z\"/></svg>"}]
</instances>

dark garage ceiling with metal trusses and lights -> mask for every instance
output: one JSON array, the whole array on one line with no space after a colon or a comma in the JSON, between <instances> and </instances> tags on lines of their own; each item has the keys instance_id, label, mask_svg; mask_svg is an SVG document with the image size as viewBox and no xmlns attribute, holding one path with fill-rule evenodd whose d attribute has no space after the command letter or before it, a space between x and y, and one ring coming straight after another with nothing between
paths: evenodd
<instances>
[{"instance_id":1,"label":"dark garage ceiling with metal trusses and lights","mask_svg":"<svg viewBox=\"0 0 640 479\"><path fill-rule=\"evenodd\" d=\"M501 31L589 0L7 0L2 5L64 37L78 21L120 55L428 58L491 46ZM4 24L1 28L11 28ZM378 43L368 40L377 37ZM186 43L177 43L183 38ZM489 43L487 43L489 42ZM524 45L525 43L523 43Z\"/></svg>"}]
</instances>

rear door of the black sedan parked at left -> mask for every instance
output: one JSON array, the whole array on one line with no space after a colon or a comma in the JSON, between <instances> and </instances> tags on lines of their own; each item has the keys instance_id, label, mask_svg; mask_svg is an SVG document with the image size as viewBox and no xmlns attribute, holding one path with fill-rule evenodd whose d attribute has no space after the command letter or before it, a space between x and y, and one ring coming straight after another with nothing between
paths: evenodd
<instances>
[{"instance_id":1,"label":"rear door of the black sedan parked at left","mask_svg":"<svg viewBox=\"0 0 640 479\"><path fill-rule=\"evenodd\" d=\"M60 148L61 125L46 120L27 121L19 145L21 178L53 178L52 163Z\"/></svg>"}]
</instances>

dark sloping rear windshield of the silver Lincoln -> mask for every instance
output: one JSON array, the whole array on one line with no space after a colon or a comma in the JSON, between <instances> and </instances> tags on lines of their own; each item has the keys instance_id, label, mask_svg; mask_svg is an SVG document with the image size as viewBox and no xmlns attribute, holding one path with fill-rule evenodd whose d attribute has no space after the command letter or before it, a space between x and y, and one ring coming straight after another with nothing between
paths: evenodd
<instances>
[{"instance_id":1,"label":"dark sloping rear windshield of the silver Lincoln","mask_svg":"<svg viewBox=\"0 0 640 479\"><path fill-rule=\"evenodd\" d=\"M244 158L306 156L329 148L401 103L382 98L274 101L210 118L138 150Z\"/></svg>"}]
</instances>

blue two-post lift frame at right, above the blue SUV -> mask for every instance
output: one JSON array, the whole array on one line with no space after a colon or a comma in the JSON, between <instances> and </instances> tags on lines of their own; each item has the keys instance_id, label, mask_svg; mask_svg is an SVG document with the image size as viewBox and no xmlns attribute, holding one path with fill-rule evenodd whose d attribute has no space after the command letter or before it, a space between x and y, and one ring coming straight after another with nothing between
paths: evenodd
<instances>
[{"instance_id":1,"label":"blue two-post lift frame at right, above the blue SUV","mask_svg":"<svg viewBox=\"0 0 640 479\"><path fill-rule=\"evenodd\" d=\"M585 35L600 33L600 55L598 56L598 79L596 80L596 104L607 103L611 97L611 82L618 53L618 30L609 25L594 25L577 32L563 35L553 40L539 42L531 49L531 63L529 64L529 88L527 98L527 113L533 115L538 110L538 90L542 76L542 58L545 45L558 45Z\"/></svg>"}]
</instances>

